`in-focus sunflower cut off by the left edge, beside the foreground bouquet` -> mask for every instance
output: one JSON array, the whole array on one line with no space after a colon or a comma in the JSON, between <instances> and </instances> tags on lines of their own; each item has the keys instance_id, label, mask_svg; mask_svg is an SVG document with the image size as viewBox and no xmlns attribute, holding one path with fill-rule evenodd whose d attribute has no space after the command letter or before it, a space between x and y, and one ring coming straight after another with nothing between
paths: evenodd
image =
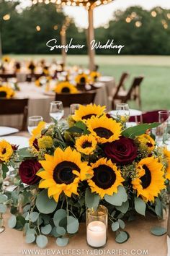
<instances>
[{"instance_id":1,"label":"in-focus sunflower cut off by the left edge, beside the foreground bouquet","mask_svg":"<svg viewBox=\"0 0 170 256\"><path fill-rule=\"evenodd\" d=\"M12 145L6 140L0 141L0 161L8 162L13 154Z\"/></svg>"}]
</instances>

